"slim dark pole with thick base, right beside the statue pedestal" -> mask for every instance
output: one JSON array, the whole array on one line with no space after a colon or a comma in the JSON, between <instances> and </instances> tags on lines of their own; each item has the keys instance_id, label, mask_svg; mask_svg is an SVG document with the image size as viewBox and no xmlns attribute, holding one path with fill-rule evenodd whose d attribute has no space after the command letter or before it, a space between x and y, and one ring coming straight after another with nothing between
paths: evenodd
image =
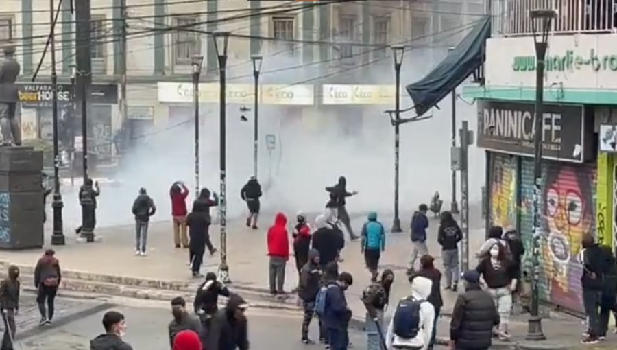
<instances>
[{"instance_id":1,"label":"slim dark pole with thick base, right beside the statue pedestal","mask_svg":"<svg viewBox=\"0 0 617 350\"><path fill-rule=\"evenodd\" d=\"M54 17L53 0L49 0L49 23L53 23ZM51 244L64 245L64 233L62 223L62 194L60 194L60 155L58 154L58 74L56 73L56 39L54 28L51 25L51 115L53 118L53 235Z\"/></svg>"}]
</instances>

